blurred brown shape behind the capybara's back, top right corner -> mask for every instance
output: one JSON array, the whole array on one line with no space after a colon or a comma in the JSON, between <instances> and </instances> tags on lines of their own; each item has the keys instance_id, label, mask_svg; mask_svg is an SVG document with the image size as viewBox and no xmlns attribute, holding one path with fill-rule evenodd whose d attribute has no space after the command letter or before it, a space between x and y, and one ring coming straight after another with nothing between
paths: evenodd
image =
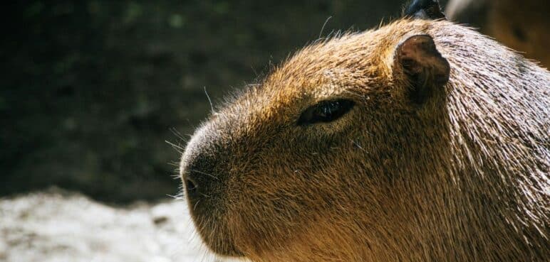
<instances>
[{"instance_id":1,"label":"blurred brown shape behind the capybara's back, top right corner","mask_svg":"<svg viewBox=\"0 0 550 262\"><path fill-rule=\"evenodd\" d=\"M446 9L453 21L479 27L526 58L550 65L550 1L451 0Z\"/></svg>"}]
</instances>

